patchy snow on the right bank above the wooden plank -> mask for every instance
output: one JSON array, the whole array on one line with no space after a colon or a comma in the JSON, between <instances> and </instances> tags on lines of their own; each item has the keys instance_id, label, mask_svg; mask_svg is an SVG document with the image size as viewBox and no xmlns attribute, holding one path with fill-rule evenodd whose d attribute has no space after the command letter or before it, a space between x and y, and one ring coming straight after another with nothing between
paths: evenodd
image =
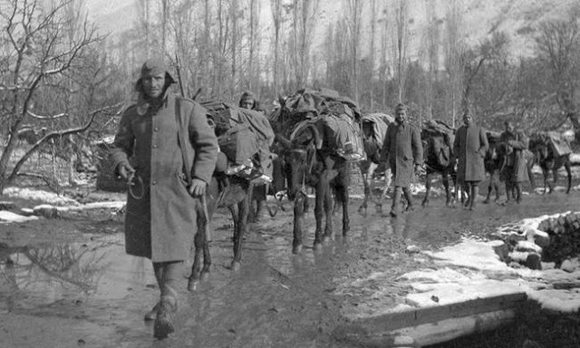
<instances>
[{"instance_id":1,"label":"patchy snow on the right bank above the wooden plank","mask_svg":"<svg viewBox=\"0 0 580 348\"><path fill-rule=\"evenodd\" d=\"M527 241L520 242L521 247L536 249L536 244L531 242L537 236L546 235L546 232L537 228L539 223L547 218L558 218L565 214L567 213L523 219L516 224L499 227L498 234L518 234L527 237ZM480 241L464 238L459 244L444 247L439 251L423 251L421 255L427 258L423 262L425 268L395 279L398 285L412 288L406 295L404 304L394 308L362 305L357 308L356 313L350 315L376 316L410 308L432 307L517 293L527 294L530 300L541 304L546 310L559 313L580 311L580 268L575 267L572 272L565 272L547 264L543 264L544 270L507 266L494 250L494 247L499 247L503 243L501 240ZM381 272L359 279L358 282L365 284L372 280L372 284L376 285L372 297L380 301L382 297L388 295L380 285L382 278L385 282L392 282L392 279L386 278Z\"/></svg>"}]
</instances>

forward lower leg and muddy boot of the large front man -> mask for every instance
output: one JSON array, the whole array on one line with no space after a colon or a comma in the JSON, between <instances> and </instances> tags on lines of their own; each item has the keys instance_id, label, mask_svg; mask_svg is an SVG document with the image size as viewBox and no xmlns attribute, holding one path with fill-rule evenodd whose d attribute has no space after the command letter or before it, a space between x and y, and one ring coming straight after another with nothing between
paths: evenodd
<instances>
[{"instance_id":1,"label":"forward lower leg and muddy boot of the large front man","mask_svg":"<svg viewBox=\"0 0 580 348\"><path fill-rule=\"evenodd\" d=\"M153 325L153 336L167 338L173 333L173 314L178 310L177 282L181 262L163 263L163 287L161 288L160 305Z\"/></svg>"}]
</instances>

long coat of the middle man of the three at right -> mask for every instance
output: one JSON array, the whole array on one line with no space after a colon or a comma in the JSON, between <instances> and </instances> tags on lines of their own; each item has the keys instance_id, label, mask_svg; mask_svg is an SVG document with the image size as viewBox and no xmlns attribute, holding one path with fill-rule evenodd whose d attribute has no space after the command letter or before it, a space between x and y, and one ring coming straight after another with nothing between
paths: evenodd
<instances>
[{"instance_id":1,"label":"long coat of the middle man of the three at right","mask_svg":"<svg viewBox=\"0 0 580 348\"><path fill-rule=\"evenodd\" d=\"M471 124L463 125L455 134L453 153L457 157L457 179L459 182L481 181L486 172L483 160L489 148L488 137L483 128Z\"/></svg>"}]
</instances>

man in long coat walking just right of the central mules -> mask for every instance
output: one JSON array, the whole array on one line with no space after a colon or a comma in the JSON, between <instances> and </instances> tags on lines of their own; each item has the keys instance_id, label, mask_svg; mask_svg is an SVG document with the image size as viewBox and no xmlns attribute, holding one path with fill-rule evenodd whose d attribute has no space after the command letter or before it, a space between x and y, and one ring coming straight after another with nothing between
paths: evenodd
<instances>
[{"instance_id":1,"label":"man in long coat walking just right of the central mules","mask_svg":"<svg viewBox=\"0 0 580 348\"><path fill-rule=\"evenodd\" d=\"M392 198L391 217L401 212L401 192L407 199L407 211L413 209L411 181L423 165L423 145L420 132L407 121L407 106L395 108L395 122L389 125L381 151L381 161L389 162L395 188Z\"/></svg>"}]
</instances>

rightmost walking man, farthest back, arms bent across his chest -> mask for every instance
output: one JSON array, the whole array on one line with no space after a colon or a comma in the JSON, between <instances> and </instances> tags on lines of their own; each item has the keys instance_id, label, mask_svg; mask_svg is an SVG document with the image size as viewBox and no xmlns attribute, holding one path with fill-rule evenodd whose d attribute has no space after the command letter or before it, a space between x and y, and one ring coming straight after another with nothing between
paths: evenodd
<instances>
[{"instance_id":1,"label":"rightmost walking man, farthest back, arms bent across his chest","mask_svg":"<svg viewBox=\"0 0 580 348\"><path fill-rule=\"evenodd\" d=\"M511 121L504 124L506 131L499 136L499 151L504 158L499 178L506 183L507 202L515 189L514 198L519 203L522 199L522 184L529 180L526 158L529 139L523 131L517 131Z\"/></svg>"}]
</instances>

